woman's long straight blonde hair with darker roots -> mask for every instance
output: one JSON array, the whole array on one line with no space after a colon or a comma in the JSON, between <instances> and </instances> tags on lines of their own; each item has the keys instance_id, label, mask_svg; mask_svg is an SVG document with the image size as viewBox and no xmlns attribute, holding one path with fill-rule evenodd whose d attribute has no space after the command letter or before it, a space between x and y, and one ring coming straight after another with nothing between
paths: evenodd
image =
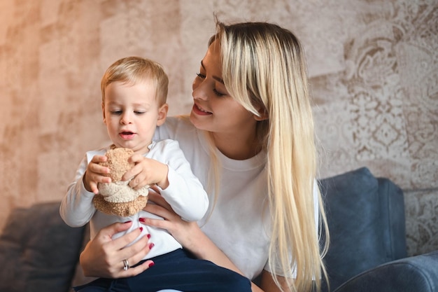
<instances>
[{"instance_id":1,"label":"woman's long straight blonde hair with darker roots","mask_svg":"<svg viewBox=\"0 0 438 292\"><path fill-rule=\"evenodd\" d=\"M229 95L251 113L267 114L258 122L257 136L267 151L273 223L269 268L275 273L281 267L292 291L311 291L313 281L319 290L329 237L326 230L320 251L313 204L316 143L303 48L292 32L266 22L225 25L216 20L216 29L210 43L220 42ZM319 191L318 204L319 227L326 228ZM281 288L276 275L274 281Z\"/></svg>"}]
</instances>

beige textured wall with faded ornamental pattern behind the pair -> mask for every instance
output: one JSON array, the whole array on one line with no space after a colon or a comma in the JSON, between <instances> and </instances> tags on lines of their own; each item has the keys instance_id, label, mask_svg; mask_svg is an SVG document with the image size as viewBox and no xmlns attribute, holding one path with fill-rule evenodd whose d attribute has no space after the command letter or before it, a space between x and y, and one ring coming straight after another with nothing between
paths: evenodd
<instances>
[{"instance_id":1,"label":"beige textured wall with faded ornamental pattern behind the pair","mask_svg":"<svg viewBox=\"0 0 438 292\"><path fill-rule=\"evenodd\" d=\"M87 149L108 143L99 81L120 57L161 62L171 114L221 20L266 20L306 48L321 176L367 166L401 186L409 253L438 249L436 0L0 1L0 228L60 200Z\"/></svg>"}]
</instances>

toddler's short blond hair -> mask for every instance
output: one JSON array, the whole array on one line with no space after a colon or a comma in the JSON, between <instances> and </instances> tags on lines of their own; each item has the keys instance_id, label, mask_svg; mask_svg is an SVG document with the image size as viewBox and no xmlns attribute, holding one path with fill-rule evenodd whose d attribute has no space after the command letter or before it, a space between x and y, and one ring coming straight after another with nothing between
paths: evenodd
<instances>
[{"instance_id":1,"label":"toddler's short blond hair","mask_svg":"<svg viewBox=\"0 0 438 292\"><path fill-rule=\"evenodd\" d=\"M142 57L124 57L111 64L101 80L102 102L105 102L106 87L115 82L139 83L152 79L155 98L160 105L166 103L169 78L161 64Z\"/></svg>"}]
</instances>

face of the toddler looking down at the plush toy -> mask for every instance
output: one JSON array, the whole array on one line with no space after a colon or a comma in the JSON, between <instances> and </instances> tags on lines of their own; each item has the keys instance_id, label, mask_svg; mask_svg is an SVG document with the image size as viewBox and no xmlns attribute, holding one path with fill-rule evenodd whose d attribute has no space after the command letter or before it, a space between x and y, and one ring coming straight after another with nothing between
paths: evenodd
<instances>
[{"instance_id":1,"label":"face of the toddler looking down at the plush toy","mask_svg":"<svg viewBox=\"0 0 438 292\"><path fill-rule=\"evenodd\" d=\"M157 123L163 118L153 82L131 84L116 81L110 83L105 92L102 111L111 141L117 147L147 153Z\"/></svg>"}]
</instances>

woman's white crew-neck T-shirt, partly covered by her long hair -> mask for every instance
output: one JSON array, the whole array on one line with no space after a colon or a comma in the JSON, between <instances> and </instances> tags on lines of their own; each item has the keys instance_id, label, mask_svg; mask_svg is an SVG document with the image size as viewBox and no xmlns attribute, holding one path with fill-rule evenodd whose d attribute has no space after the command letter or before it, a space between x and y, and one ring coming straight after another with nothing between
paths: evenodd
<instances>
[{"instance_id":1,"label":"woman's white crew-neck T-shirt, partly covered by her long hair","mask_svg":"<svg viewBox=\"0 0 438 292\"><path fill-rule=\"evenodd\" d=\"M208 142L203 132L186 118L167 118L157 128L156 139L176 139L192 171L206 187L210 165ZM269 242L271 228L267 202L266 152L248 160L232 160L216 151L220 169L220 190L216 206L211 207L199 221L203 232L229 257L249 279L257 277L263 269L269 270ZM316 189L315 189L316 190ZM317 192L315 220L318 221ZM209 194L211 205L214 199ZM277 270L274 274L281 274Z\"/></svg>"}]
</instances>

